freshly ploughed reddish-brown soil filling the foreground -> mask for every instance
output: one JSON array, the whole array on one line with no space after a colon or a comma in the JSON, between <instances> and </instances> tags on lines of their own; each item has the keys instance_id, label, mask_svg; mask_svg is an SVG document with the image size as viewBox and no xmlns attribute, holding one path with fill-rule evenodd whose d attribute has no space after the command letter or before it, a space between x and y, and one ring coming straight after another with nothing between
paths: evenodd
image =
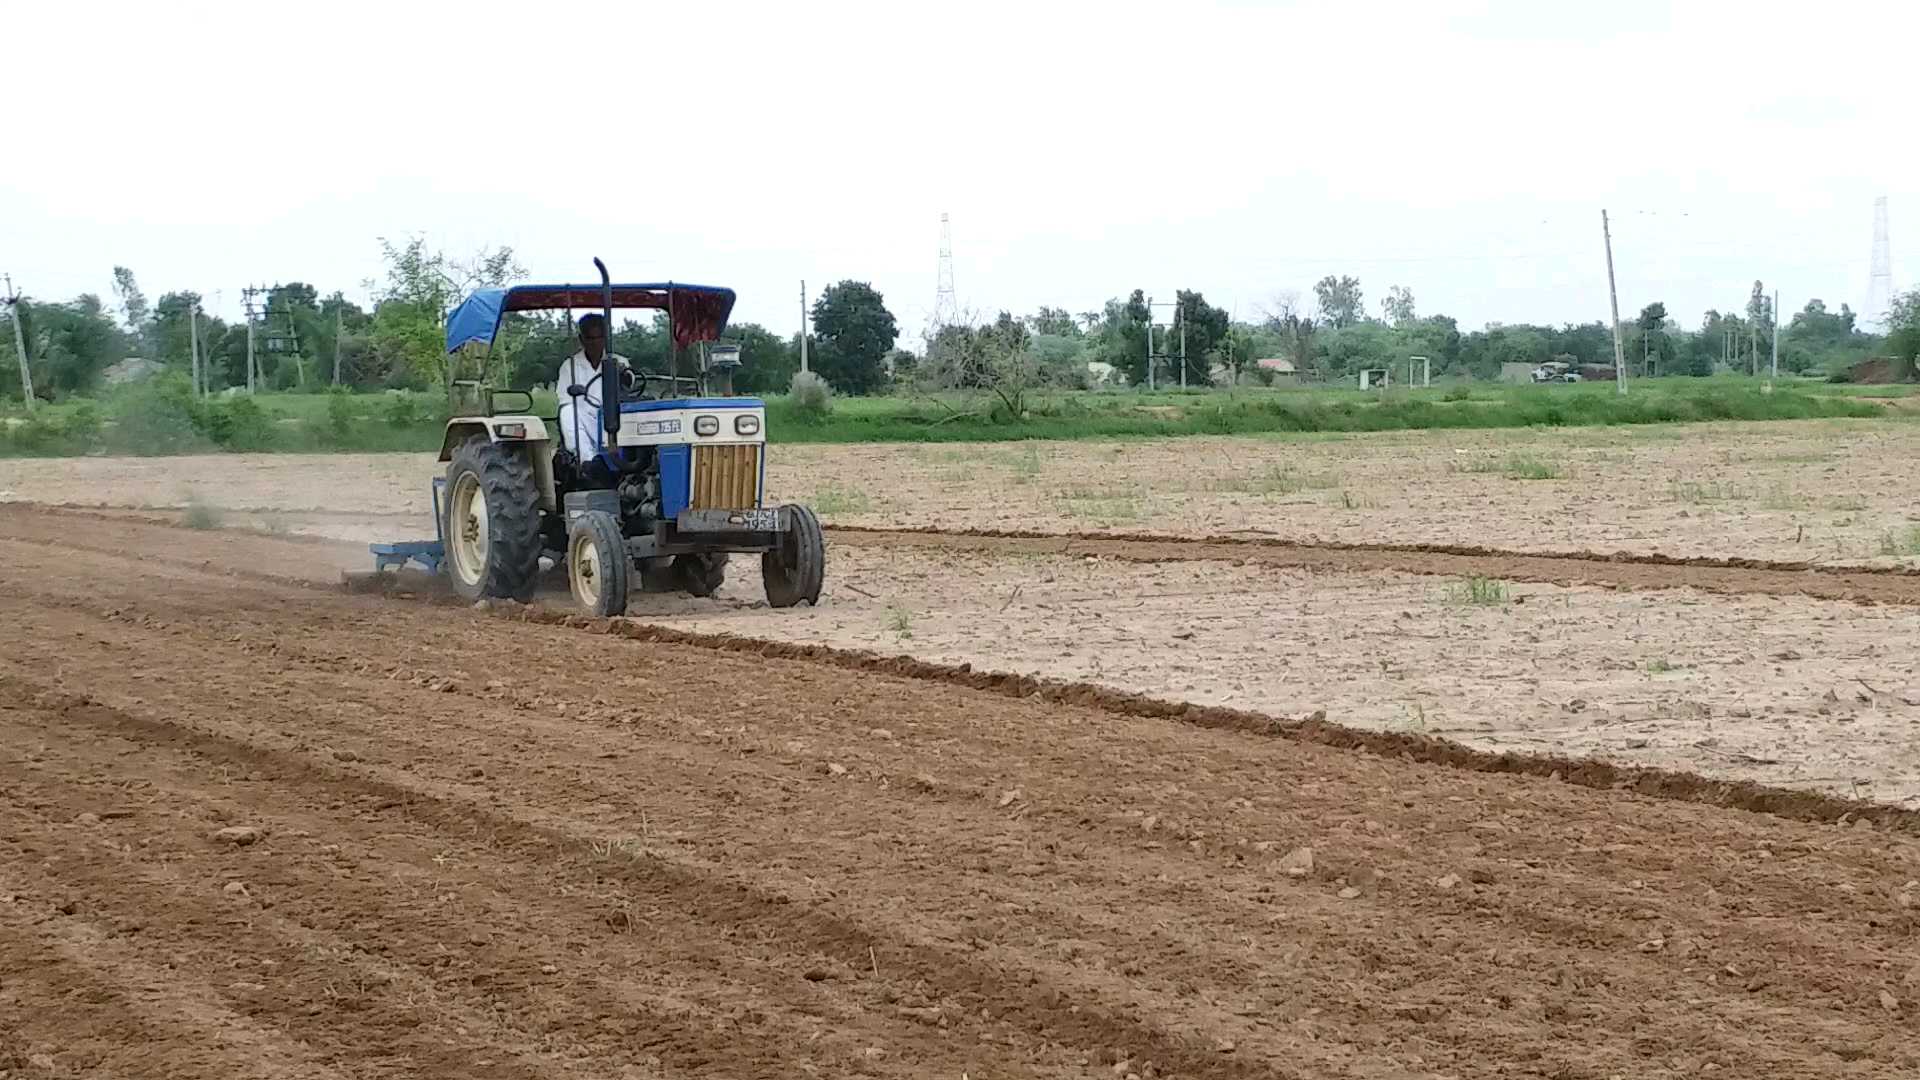
<instances>
[{"instance_id":1,"label":"freshly ploughed reddish-brown soil filling the foreground","mask_svg":"<svg viewBox=\"0 0 1920 1080\"><path fill-rule=\"evenodd\" d=\"M0 517L0 1072L1920 1068L1895 832L71 528Z\"/></svg>"}]
</instances>

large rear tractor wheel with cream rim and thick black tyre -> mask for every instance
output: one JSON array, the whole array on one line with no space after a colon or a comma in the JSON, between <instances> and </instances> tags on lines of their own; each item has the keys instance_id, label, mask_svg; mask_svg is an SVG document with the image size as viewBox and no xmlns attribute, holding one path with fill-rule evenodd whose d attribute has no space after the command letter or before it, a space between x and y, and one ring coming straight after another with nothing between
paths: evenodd
<instances>
[{"instance_id":1,"label":"large rear tractor wheel with cream rim and thick black tyre","mask_svg":"<svg viewBox=\"0 0 1920 1080\"><path fill-rule=\"evenodd\" d=\"M447 463L447 577L463 600L532 600L540 575L540 488L534 463L476 434Z\"/></svg>"}]
</instances>

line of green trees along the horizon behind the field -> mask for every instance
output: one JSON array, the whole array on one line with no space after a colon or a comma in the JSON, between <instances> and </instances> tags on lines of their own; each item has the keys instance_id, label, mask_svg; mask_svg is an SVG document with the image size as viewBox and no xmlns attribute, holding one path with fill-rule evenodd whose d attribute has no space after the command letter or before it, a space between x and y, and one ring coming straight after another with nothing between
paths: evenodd
<instances>
[{"instance_id":1,"label":"line of green trees along the horizon behind the field","mask_svg":"<svg viewBox=\"0 0 1920 1080\"><path fill-rule=\"evenodd\" d=\"M365 309L342 290L321 294L307 282L286 282L259 298L253 325L257 382L265 390L430 388L447 377L444 319L472 288L511 284L526 271L511 248L451 258L415 238L380 240L384 277L371 284ZM808 367L841 394L889 388L993 390L1018 409L1031 388L1085 386L1108 373L1127 384L1148 382L1152 334L1154 382L1206 386L1217 380L1267 380L1283 359L1309 380L1342 380L1359 369L1394 367L1425 356L1436 377L1496 379L1505 365L1548 361L1613 365L1613 331L1594 323L1490 323L1461 331L1452 315L1421 315L1413 292L1390 286L1369 311L1359 279L1329 275L1313 284L1311 300L1283 292L1256 319L1236 321L1198 290L1179 290L1173 302L1148 306L1142 290L1114 298L1096 311L1046 307L1031 315L1000 311L935 327L920 350L900 348L900 327L885 298L860 281L826 288L810 309L810 332L776 334L756 323L733 323L726 340L741 348L735 388L749 394L785 392ZM138 357L188 373L194 354L211 392L248 384L248 327L204 309L196 292L167 292L146 300L134 271L113 267L113 306L84 294L67 302L25 298L13 306L33 365L36 396L86 396L102 386L109 367ZM1634 375L1711 375L1716 369L1766 369L1776 311L1763 282L1745 306L1711 309L1697 329L1680 327L1665 304L1647 304L1622 321L1624 356ZM566 313L513 313L492 350L492 377L505 386L553 380L576 348ZM622 319L614 352L649 371L670 361L664 315ZM0 394L19 398L19 365L12 334L0 334ZM1914 375L1920 354L1920 290L1899 296L1889 331L1868 334L1845 304L1837 311L1809 300L1780 327L1780 367L1789 373L1841 375L1870 357L1893 361L1895 377Z\"/></svg>"}]
</instances>

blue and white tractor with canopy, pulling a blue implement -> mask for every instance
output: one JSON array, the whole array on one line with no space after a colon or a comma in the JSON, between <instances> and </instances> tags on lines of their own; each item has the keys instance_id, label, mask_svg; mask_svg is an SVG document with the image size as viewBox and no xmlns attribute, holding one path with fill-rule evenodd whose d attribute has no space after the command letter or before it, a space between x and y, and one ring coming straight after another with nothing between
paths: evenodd
<instances>
[{"instance_id":1,"label":"blue and white tractor with canopy, pulling a blue implement","mask_svg":"<svg viewBox=\"0 0 1920 1080\"><path fill-rule=\"evenodd\" d=\"M818 603L820 519L806 505L762 505L766 404L733 396L737 350L710 348L708 363L682 375L691 346L726 329L733 290L612 284L607 265L593 265L599 286L474 290L447 319L447 354L484 357L513 311L564 309L572 323L574 309L599 309L611 331L614 309L637 307L666 313L672 371L628 371L609 350L586 382L555 386L574 405L557 409L555 430L568 411L599 413L597 430L563 432L559 444L547 417L532 415L532 392L449 379L445 475L434 479L438 538L372 544L376 573L419 561L445 573L463 600L528 601L545 555L566 569L574 601L605 617L626 611L634 584L710 596L728 555L756 553L772 607Z\"/></svg>"}]
</instances>

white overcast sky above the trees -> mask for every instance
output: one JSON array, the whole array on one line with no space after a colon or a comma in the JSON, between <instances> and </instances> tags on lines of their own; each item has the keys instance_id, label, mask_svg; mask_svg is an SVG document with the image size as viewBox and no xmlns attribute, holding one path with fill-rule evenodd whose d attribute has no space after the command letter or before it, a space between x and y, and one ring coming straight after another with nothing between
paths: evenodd
<instances>
[{"instance_id":1,"label":"white overcast sky above the trees","mask_svg":"<svg viewBox=\"0 0 1920 1080\"><path fill-rule=\"evenodd\" d=\"M864 279L960 306L1327 273L1463 329L1860 307L1872 202L1920 265L1920 4L94 4L8 8L0 269L29 294L365 300L378 236L532 281ZM1905 242L1903 242L1905 238Z\"/></svg>"}]
</instances>

